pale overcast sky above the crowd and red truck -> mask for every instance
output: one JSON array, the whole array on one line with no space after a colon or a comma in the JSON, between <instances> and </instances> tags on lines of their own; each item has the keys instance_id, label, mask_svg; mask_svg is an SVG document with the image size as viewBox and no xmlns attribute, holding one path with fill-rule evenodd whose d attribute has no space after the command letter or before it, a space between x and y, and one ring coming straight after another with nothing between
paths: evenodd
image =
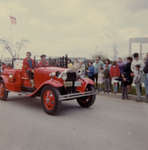
<instances>
[{"instance_id":1,"label":"pale overcast sky above the crowd and red truck","mask_svg":"<svg viewBox=\"0 0 148 150\"><path fill-rule=\"evenodd\" d=\"M29 40L22 55L112 56L117 45L125 56L130 37L148 36L147 18L148 0L0 0L0 37Z\"/></svg>"}]
</instances>

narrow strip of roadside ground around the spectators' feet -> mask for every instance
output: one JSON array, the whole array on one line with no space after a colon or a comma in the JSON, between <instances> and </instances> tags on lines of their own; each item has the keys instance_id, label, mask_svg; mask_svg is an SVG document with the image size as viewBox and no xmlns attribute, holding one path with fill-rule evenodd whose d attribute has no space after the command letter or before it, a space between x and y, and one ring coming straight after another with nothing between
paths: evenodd
<instances>
[{"instance_id":1,"label":"narrow strip of roadside ground around the spectators' feet","mask_svg":"<svg viewBox=\"0 0 148 150\"><path fill-rule=\"evenodd\" d=\"M107 94L107 93L104 93L104 92L98 92L98 95L100 95L100 96L111 96L111 97L122 99L121 98L122 97L121 93L117 93L117 94L109 93L109 94ZM136 95L129 94L128 97L129 97L128 100L136 101ZM127 99L125 99L125 100L127 100ZM141 97L141 101L140 102L146 102L145 96ZM147 103L148 103L148 100L147 100Z\"/></svg>"}]
</instances>

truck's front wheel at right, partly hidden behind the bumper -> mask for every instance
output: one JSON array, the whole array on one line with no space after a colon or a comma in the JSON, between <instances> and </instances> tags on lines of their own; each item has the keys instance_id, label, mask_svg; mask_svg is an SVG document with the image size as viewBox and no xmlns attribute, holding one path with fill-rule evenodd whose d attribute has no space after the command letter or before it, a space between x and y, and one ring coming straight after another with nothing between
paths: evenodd
<instances>
[{"instance_id":1,"label":"truck's front wheel at right, partly hidden behind the bumper","mask_svg":"<svg viewBox=\"0 0 148 150\"><path fill-rule=\"evenodd\" d=\"M95 90L94 86L91 86L91 85L89 85L86 88L86 91L92 91L92 92L94 92L94 90ZM94 104L95 99L96 99L96 95L91 95L91 96L86 96L86 97L78 98L77 102L78 102L78 104L81 107L88 108L88 107L90 107L91 105Z\"/></svg>"}]
</instances>

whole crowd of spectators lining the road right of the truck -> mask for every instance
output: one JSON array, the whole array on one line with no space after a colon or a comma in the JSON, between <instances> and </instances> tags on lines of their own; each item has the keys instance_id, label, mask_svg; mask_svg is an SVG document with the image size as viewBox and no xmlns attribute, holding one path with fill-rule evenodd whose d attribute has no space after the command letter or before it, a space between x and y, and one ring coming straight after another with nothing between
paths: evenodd
<instances>
[{"instance_id":1,"label":"whole crowd of spectators lining the road right of the truck","mask_svg":"<svg viewBox=\"0 0 148 150\"><path fill-rule=\"evenodd\" d=\"M81 68L82 64L76 60L73 65ZM68 67L71 66L72 63L69 62ZM134 53L133 57L127 57L125 60L118 58L117 61L112 62L109 59L103 61L101 57L97 57L95 61L89 61L86 66L85 73L95 82L99 92L116 94L121 87L122 99L128 99L128 93L131 86L134 85L137 101L140 101L144 83L148 102L148 53L144 60L140 59L138 53ZM84 72L84 67L81 70Z\"/></svg>"}]
</instances>

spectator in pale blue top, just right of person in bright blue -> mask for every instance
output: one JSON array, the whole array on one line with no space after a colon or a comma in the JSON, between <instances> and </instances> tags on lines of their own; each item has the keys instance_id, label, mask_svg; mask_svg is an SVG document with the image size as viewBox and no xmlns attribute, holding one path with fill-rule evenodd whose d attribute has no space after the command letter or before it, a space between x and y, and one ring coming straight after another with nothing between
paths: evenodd
<instances>
[{"instance_id":1,"label":"spectator in pale blue top, just right of person in bright blue","mask_svg":"<svg viewBox=\"0 0 148 150\"><path fill-rule=\"evenodd\" d=\"M94 73L94 80L96 82L96 87L97 87L97 83L98 83L98 73L101 67L103 67L103 62L101 61L101 58L98 57L96 58L94 65L94 69L95 69L95 73Z\"/></svg>"}]
</instances>

